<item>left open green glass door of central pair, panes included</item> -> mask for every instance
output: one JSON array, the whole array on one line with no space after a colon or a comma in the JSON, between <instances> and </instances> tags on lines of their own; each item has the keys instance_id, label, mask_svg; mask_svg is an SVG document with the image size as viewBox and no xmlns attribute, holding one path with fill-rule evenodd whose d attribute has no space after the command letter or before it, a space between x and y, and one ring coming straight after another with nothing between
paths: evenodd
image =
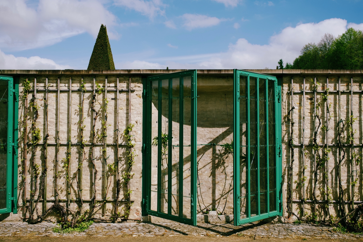
<instances>
[{"instance_id":1,"label":"left open green glass door of central pair, panes included","mask_svg":"<svg viewBox=\"0 0 363 242\"><path fill-rule=\"evenodd\" d=\"M191 225L196 225L196 80L196 70L144 80L143 215Z\"/></svg>"}]
</instances>

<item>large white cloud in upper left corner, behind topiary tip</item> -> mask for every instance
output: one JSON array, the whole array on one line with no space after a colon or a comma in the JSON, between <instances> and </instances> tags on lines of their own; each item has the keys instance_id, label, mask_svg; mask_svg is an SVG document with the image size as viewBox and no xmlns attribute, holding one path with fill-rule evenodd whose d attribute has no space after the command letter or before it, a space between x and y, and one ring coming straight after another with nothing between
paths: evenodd
<instances>
[{"instance_id":1,"label":"large white cloud in upper left corner, behind topiary tip","mask_svg":"<svg viewBox=\"0 0 363 242\"><path fill-rule=\"evenodd\" d=\"M26 0L0 1L0 48L19 51L52 45L99 27L111 27L116 17L99 0L39 0L35 8ZM117 38L109 31L109 37Z\"/></svg>"}]
</instances>

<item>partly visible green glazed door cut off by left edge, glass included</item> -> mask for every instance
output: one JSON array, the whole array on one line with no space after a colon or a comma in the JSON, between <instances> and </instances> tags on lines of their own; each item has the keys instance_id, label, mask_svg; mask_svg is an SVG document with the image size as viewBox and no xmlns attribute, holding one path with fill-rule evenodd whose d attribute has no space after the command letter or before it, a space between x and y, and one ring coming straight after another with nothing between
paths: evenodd
<instances>
[{"instance_id":1,"label":"partly visible green glazed door cut off by left edge, glass included","mask_svg":"<svg viewBox=\"0 0 363 242\"><path fill-rule=\"evenodd\" d=\"M0 213L17 213L17 140L19 80L0 76Z\"/></svg>"}]
</instances>

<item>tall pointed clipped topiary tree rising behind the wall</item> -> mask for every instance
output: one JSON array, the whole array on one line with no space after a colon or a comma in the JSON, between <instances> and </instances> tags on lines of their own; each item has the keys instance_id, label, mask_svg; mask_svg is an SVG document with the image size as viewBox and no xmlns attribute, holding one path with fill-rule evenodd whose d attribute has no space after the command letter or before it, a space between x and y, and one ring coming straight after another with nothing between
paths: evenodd
<instances>
[{"instance_id":1,"label":"tall pointed clipped topiary tree rising behind the wall","mask_svg":"<svg viewBox=\"0 0 363 242\"><path fill-rule=\"evenodd\" d=\"M109 36L107 36L107 29L105 25L101 24L87 70L114 69L115 64L113 62Z\"/></svg>"}]
</instances>

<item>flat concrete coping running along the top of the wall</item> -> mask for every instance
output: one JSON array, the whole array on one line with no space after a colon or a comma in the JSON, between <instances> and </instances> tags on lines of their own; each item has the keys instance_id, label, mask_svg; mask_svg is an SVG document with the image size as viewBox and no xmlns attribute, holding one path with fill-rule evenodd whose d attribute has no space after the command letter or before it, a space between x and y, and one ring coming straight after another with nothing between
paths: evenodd
<instances>
[{"instance_id":1,"label":"flat concrete coping running along the top of the wall","mask_svg":"<svg viewBox=\"0 0 363 242\"><path fill-rule=\"evenodd\" d=\"M0 74L167 74L187 69L124 69L124 70L0 70ZM244 69L262 74L361 74L363 69ZM197 74L233 74L233 69L198 69Z\"/></svg>"}]
</instances>

